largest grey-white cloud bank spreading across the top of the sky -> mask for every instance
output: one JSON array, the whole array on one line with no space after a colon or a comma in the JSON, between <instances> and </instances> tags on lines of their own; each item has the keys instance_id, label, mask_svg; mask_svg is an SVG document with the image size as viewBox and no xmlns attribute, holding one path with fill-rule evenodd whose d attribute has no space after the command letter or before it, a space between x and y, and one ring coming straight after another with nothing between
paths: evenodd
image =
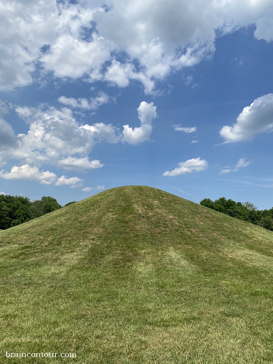
<instances>
[{"instance_id":1,"label":"largest grey-white cloud bank spreading across the top of the sky","mask_svg":"<svg viewBox=\"0 0 273 364\"><path fill-rule=\"evenodd\" d=\"M273 39L270 0L101 4L1 1L0 89L31 84L32 72L40 70L40 78L51 72L55 78L83 77L119 87L138 80L151 93L171 70L210 58L216 36L255 23L257 39Z\"/></svg>"}]
</instances>

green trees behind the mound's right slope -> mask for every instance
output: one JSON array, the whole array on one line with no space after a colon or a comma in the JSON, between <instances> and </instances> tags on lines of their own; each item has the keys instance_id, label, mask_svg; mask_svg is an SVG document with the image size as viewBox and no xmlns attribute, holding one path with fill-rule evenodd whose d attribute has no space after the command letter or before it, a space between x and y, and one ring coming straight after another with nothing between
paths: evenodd
<instances>
[{"instance_id":1,"label":"green trees behind the mound's right slope","mask_svg":"<svg viewBox=\"0 0 273 364\"><path fill-rule=\"evenodd\" d=\"M204 198L200 204L209 207L212 210L222 212L226 215L251 222L273 231L273 207L269 210L258 210L251 202L235 202L232 199L227 200L225 197L221 197L215 201Z\"/></svg>"}]
</instances>

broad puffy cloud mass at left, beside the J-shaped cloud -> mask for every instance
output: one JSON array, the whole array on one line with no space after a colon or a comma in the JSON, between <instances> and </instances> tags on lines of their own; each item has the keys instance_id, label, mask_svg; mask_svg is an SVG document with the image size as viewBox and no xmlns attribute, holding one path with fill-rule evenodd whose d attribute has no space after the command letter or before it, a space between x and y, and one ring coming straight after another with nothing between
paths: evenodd
<instances>
[{"instance_id":1,"label":"broad puffy cloud mass at left, beside the J-shaped cloud","mask_svg":"<svg viewBox=\"0 0 273 364\"><path fill-rule=\"evenodd\" d=\"M122 134L112 124L80 124L72 110L16 107L17 114L29 124L27 133L14 134L10 124L0 118L0 165L11 159L21 164L41 166L43 163L82 171L102 167L88 155L96 143L117 143Z\"/></svg>"}]
</instances>

